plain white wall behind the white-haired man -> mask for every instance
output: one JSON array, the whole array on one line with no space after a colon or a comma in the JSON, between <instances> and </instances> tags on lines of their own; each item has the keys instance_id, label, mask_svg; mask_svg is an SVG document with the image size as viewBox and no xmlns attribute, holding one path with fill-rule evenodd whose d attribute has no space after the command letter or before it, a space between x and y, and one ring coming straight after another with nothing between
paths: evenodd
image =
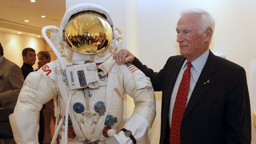
<instances>
[{"instance_id":1,"label":"plain white wall behind the white-haired man","mask_svg":"<svg viewBox=\"0 0 256 144\"><path fill-rule=\"evenodd\" d=\"M180 11L184 8L203 8L213 15L216 20L216 29L210 49L213 53L225 55L226 59L245 68L251 111L256 111L256 92L253 90L256 85L254 81L256 1L140 0L138 13L140 43L139 52L136 55L155 71L159 71L164 66L169 56L179 55L175 27ZM127 35L129 34L127 30ZM158 107L161 105L160 99L156 102ZM160 113L160 108L157 113ZM156 121L158 119L160 118L156 117ZM252 126L252 143L256 143L254 126Z\"/></svg>"}]
</instances>

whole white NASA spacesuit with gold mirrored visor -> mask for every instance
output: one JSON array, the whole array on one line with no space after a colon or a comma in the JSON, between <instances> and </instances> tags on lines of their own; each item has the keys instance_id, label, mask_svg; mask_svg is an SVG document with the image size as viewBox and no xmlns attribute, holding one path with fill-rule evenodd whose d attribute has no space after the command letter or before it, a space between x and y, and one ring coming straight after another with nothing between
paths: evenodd
<instances>
[{"instance_id":1,"label":"whole white NASA spacesuit with gold mirrored visor","mask_svg":"<svg viewBox=\"0 0 256 144\"><path fill-rule=\"evenodd\" d=\"M121 36L110 14L98 5L79 4L68 9L59 29L50 28L53 43L44 38L58 60L25 79L9 116L15 142L39 143L39 111L58 95L55 116L60 120L52 143L58 134L61 143L150 143L153 88L131 63L120 66L113 60ZM135 103L124 125L123 94Z\"/></svg>"}]
</instances>

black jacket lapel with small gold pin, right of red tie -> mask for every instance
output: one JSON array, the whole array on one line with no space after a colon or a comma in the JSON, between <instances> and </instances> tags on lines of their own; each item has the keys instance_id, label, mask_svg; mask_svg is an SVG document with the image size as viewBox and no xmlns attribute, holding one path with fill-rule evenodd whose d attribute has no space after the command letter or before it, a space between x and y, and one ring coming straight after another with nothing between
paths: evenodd
<instances>
[{"instance_id":1,"label":"black jacket lapel with small gold pin, right of red tie","mask_svg":"<svg viewBox=\"0 0 256 144\"><path fill-rule=\"evenodd\" d=\"M183 119L194 109L201 97L206 93L206 91L212 86L216 80L214 73L216 71L215 55L212 52L209 53L206 64L197 80L194 90L191 94L190 100L188 101L187 107L185 109L185 114Z\"/></svg>"}]
</instances>

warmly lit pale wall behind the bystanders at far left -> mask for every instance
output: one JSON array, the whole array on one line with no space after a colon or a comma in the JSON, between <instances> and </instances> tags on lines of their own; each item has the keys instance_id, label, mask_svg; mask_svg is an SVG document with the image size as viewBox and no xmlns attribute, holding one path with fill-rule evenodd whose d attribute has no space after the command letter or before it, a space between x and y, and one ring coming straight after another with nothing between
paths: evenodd
<instances>
[{"instance_id":1,"label":"warmly lit pale wall behind the bystanders at far left","mask_svg":"<svg viewBox=\"0 0 256 144\"><path fill-rule=\"evenodd\" d=\"M4 47L4 56L16 63L18 66L23 65L22 51L25 47L31 47L36 53L44 50L44 40L36 37L29 37L20 34L12 34L0 31L0 42ZM33 66L37 69L37 62Z\"/></svg>"}]
</instances>

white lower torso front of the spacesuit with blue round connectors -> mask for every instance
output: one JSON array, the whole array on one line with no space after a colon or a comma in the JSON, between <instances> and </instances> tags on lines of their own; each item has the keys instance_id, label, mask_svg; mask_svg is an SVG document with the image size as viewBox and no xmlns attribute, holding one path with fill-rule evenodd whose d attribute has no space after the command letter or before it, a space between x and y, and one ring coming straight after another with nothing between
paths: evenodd
<instances>
[{"instance_id":1,"label":"white lower torso front of the spacesuit with blue round connectors","mask_svg":"<svg viewBox=\"0 0 256 144\"><path fill-rule=\"evenodd\" d=\"M117 130L123 117L123 92L116 71L111 69L104 76L99 72L98 76L100 87L78 89L70 106L73 116L71 121L79 126L79 129L73 129L76 136L84 136L91 142L106 139L103 136L104 127L110 126Z\"/></svg>"}]
</instances>

